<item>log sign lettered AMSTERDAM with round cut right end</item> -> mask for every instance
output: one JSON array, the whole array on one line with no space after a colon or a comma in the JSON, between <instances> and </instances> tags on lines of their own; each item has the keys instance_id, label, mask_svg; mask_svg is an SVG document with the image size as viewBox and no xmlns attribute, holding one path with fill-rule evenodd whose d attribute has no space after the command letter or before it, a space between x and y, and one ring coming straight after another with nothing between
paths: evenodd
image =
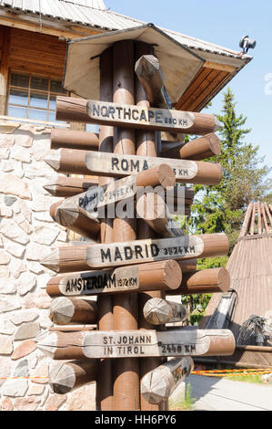
<instances>
[{"instance_id":1,"label":"log sign lettered AMSTERDAM with round cut right end","mask_svg":"<svg viewBox=\"0 0 272 429\"><path fill-rule=\"evenodd\" d=\"M46 293L55 298L108 295L148 290L172 290L180 286L181 268L174 260L130 267L52 277Z\"/></svg>"}]
</instances>

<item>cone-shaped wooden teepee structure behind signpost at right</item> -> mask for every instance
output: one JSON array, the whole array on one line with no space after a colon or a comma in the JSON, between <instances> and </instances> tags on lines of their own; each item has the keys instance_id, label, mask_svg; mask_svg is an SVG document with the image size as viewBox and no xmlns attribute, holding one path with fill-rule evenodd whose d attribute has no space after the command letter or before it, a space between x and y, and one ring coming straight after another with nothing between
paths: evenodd
<instances>
[{"instance_id":1,"label":"cone-shaped wooden teepee structure behind signpost at right","mask_svg":"<svg viewBox=\"0 0 272 429\"><path fill-rule=\"evenodd\" d=\"M227 270L231 278L230 289L211 298L200 328L232 330L237 348L233 356L205 361L251 368L272 367L271 204L248 205ZM258 337L258 322L265 322L265 338ZM197 361L200 360L204 361L203 358Z\"/></svg>"}]
</instances>

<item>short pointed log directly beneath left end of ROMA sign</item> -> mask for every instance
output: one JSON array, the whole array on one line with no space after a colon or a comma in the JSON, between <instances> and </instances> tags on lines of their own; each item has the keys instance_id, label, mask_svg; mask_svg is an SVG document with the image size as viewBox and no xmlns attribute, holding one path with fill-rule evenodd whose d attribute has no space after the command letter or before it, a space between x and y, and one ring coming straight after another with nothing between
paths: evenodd
<instances>
[{"instance_id":1,"label":"short pointed log directly beneath left end of ROMA sign","mask_svg":"<svg viewBox=\"0 0 272 429\"><path fill-rule=\"evenodd\" d=\"M56 177L44 187L45 191L53 196L71 197L85 193L89 188L97 187L96 177L79 179L77 177Z\"/></svg>"}]
</instances>

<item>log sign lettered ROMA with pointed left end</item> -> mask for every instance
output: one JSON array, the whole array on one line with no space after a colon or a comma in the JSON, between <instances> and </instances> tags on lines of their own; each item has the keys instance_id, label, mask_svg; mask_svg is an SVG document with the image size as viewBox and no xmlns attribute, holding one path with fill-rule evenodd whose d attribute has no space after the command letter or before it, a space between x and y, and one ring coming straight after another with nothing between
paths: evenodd
<instances>
[{"instance_id":1,"label":"log sign lettered ROMA with pointed left end","mask_svg":"<svg viewBox=\"0 0 272 429\"><path fill-rule=\"evenodd\" d=\"M62 149L60 152L46 155L44 161L59 173L97 174L120 178L145 172L160 164L167 164L173 169L178 183L217 184L222 179L220 164L180 160L178 157L175 160Z\"/></svg>"}]
</instances>

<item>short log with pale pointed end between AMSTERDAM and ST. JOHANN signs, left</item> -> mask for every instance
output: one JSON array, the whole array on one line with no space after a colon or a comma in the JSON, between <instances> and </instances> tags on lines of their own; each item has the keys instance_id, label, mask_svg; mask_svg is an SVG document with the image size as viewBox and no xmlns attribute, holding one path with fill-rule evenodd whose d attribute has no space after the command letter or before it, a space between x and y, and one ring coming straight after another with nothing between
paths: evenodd
<instances>
[{"instance_id":1,"label":"short log with pale pointed end between AMSTERDAM and ST. JOHANN signs, left","mask_svg":"<svg viewBox=\"0 0 272 429\"><path fill-rule=\"evenodd\" d=\"M53 299L50 306L50 319L56 325L94 324L97 314L96 302L84 299L59 297Z\"/></svg>"}]
</instances>

